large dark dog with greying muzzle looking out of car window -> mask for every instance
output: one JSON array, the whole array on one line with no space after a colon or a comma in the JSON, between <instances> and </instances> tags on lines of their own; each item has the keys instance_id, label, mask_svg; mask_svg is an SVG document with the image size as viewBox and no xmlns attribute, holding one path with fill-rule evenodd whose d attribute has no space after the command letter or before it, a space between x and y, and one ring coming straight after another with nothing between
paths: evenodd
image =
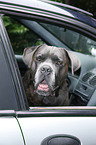
<instances>
[{"instance_id":1,"label":"large dark dog with greying muzzle looking out of car window","mask_svg":"<svg viewBox=\"0 0 96 145\"><path fill-rule=\"evenodd\" d=\"M23 61L29 68L23 78L29 106L69 105L68 67L71 66L72 75L80 67L74 54L64 48L43 44L26 48Z\"/></svg>"}]
</instances>

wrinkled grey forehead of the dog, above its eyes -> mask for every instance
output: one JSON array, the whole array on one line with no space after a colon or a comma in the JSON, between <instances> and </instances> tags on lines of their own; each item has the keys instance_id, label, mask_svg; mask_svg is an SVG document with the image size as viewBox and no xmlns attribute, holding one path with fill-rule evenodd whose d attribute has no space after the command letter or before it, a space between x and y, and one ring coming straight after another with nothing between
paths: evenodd
<instances>
[{"instance_id":1,"label":"wrinkled grey forehead of the dog, above its eyes","mask_svg":"<svg viewBox=\"0 0 96 145\"><path fill-rule=\"evenodd\" d=\"M57 56L58 58L64 58L65 51L63 48L53 47L53 46L47 46L47 47L40 47L38 52L40 55L46 55L46 56Z\"/></svg>"}]
</instances>

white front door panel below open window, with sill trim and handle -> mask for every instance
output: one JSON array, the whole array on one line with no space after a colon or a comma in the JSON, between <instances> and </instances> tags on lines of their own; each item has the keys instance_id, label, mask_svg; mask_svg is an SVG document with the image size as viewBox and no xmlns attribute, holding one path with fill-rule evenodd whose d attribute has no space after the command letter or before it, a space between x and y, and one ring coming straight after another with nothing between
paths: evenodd
<instances>
[{"instance_id":1,"label":"white front door panel below open window, with sill trim and handle","mask_svg":"<svg viewBox=\"0 0 96 145\"><path fill-rule=\"evenodd\" d=\"M20 64L22 57L16 57ZM43 108L41 106L31 107L26 111L16 111L25 143L28 145L46 145L49 144L49 140L50 144L52 144L51 142L56 144L57 140L60 141L57 142L58 144L66 144L65 138L68 142L71 138L71 142L78 140L79 144L94 145L96 142L95 115L95 107ZM92 126L90 126L91 123Z\"/></svg>"}]
</instances>

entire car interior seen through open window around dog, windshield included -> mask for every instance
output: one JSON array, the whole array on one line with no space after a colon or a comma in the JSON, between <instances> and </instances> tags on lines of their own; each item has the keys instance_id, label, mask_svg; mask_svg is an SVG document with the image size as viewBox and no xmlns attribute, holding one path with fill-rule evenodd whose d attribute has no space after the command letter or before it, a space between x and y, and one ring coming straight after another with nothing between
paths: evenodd
<instances>
[{"instance_id":1,"label":"entire car interior seen through open window around dog, windshield included","mask_svg":"<svg viewBox=\"0 0 96 145\"><path fill-rule=\"evenodd\" d=\"M95 49L96 47L96 42L94 40L84 36L83 34L79 34L77 32L73 33L70 29L62 28L62 27L58 27L58 29L60 29L60 33L58 34L58 37L56 37L57 34L55 34L54 32L56 32L55 30L57 30L57 28L53 25L52 28L50 28L50 24L46 24L46 23L43 24L42 22L29 23L29 20L27 21L27 20L18 19L17 21L17 18L15 18L14 20L13 18L9 19L4 17L3 21L5 22L5 20L15 23L15 25L17 25L16 27L19 26L18 31L15 32L14 28L11 25L6 26L5 23L5 27L7 29L9 38L11 40L11 44L14 49L15 57L22 78L24 77L25 72L28 70L27 66L24 64L22 60L22 53L24 48L28 46L36 46L43 43L48 45L56 45L56 43L58 43L60 47L64 47L72 51L80 59L81 62L81 67L76 72L74 72L74 75L72 75L70 69L68 70L68 76L66 78L66 81L69 90L70 106L95 106L96 105L96 101L95 101L96 57L92 56L91 53L92 48ZM43 33L39 32L40 29L38 28L35 29L34 27L35 25L36 28L37 26L42 28L41 32L42 31L46 32L47 34L47 36L45 35L46 38ZM46 27L48 29L46 29ZM10 28L11 31L9 31ZM22 35L22 32L24 32L24 35ZM12 33L13 35L14 34L16 35L17 39L15 40L12 39L13 37ZM63 40L61 40L62 35L63 35ZM78 40L76 40L77 37Z\"/></svg>"}]
</instances>

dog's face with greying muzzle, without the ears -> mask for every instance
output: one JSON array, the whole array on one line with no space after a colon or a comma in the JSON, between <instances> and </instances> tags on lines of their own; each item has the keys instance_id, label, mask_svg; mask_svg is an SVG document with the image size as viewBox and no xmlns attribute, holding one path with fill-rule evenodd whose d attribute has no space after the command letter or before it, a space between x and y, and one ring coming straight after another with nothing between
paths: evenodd
<instances>
[{"instance_id":1,"label":"dog's face with greying muzzle, without the ears","mask_svg":"<svg viewBox=\"0 0 96 145\"><path fill-rule=\"evenodd\" d=\"M52 95L62 85L68 72L68 60L64 49L40 47L34 55L31 69L34 73L36 93Z\"/></svg>"}]
</instances>

